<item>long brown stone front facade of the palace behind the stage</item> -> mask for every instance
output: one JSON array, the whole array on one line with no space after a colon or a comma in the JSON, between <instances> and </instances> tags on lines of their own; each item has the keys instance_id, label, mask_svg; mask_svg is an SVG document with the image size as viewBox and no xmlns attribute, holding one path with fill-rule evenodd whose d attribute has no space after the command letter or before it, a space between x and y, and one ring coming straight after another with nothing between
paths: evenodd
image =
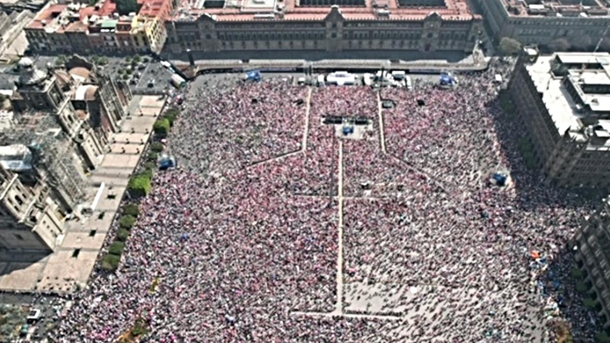
<instances>
[{"instance_id":1,"label":"long brown stone front facade of the palace behind the stage","mask_svg":"<svg viewBox=\"0 0 610 343\"><path fill-rule=\"evenodd\" d=\"M312 19L223 20L221 15L175 18L167 23L164 52L240 50L404 50L472 52L483 33L479 18L452 18L433 9L412 19L359 20L332 6Z\"/></svg>"}]
</instances>

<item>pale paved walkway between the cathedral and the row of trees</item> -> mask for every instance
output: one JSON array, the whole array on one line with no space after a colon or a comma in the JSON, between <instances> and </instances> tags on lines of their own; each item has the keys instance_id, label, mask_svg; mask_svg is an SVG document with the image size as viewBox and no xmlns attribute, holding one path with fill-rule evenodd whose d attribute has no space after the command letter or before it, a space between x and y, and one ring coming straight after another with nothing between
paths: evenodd
<instances>
[{"instance_id":1,"label":"pale paved walkway between the cathedral and the row of trees","mask_svg":"<svg viewBox=\"0 0 610 343\"><path fill-rule=\"evenodd\" d=\"M165 97L159 96L134 96L132 104L135 106L131 106L131 115L123 118L121 132L110 137L109 153L90 176L89 203L102 182L105 184L93 214L82 220L66 222L62 243L50 255L0 255L0 291L68 293L77 285L84 287L87 284L118 211L129 175L145 150L152 125L165 101Z\"/></svg>"}]
</instances>

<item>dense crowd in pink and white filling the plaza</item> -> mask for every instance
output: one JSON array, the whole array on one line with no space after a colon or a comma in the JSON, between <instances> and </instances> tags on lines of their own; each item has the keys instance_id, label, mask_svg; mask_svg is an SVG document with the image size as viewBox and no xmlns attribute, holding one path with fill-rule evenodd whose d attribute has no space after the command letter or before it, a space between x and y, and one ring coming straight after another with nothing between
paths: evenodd
<instances>
[{"instance_id":1,"label":"dense crowd in pink and white filling the plaza","mask_svg":"<svg viewBox=\"0 0 610 343\"><path fill-rule=\"evenodd\" d=\"M168 139L185 167L155 177L118 272L54 338L113 342L144 318L145 342L553 341L545 304L577 296L531 287L531 251L559 263L592 204L525 170L493 101L508 68L384 89L383 122L366 87L193 89ZM370 125L337 139L328 116ZM500 168L519 178L490 184ZM562 315L591 337L579 306Z\"/></svg>"}]
</instances>

